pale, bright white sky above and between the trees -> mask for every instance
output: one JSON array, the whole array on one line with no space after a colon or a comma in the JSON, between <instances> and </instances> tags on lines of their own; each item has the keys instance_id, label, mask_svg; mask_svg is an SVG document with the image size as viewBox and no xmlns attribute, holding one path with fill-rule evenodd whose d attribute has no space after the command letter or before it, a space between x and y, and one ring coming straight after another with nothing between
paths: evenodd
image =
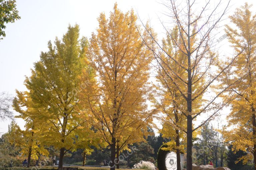
<instances>
[{"instance_id":1,"label":"pale, bright white sky above and between the trees","mask_svg":"<svg viewBox=\"0 0 256 170\"><path fill-rule=\"evenodd\" d=\"M26 90L23 85L24 76L30 76L33 63L39 60L41 51L47 51L49 40L54 41L56 36L61 38L67 31L68 24L76 23L80 25L80 35L90 38L91 33L98 27L99 14L105 12L108 16L115 2L123 12L133 8L144 22L150 19L151 26L160 36L165 32L158 20L158 17L164 17L162 13L166 11L160 4L161 0L17 0L21 19L6 25L6 37L0 41L0 92L6 91L14 96L15 89ZM198 2L205 3L205 0ZM254 4L251 10L256 11L255 0L233 0L225 18L245 2ZM223 24L229 23L228 20L224 22ZM223 28L219 32L217 38L225 34ZM221 54L232 53L226 39L219 46ZM225 124L228 113L228 109L222 111L222 121L219 121L221 124ZM16 122L21 128L24 127L23 120L16 119ZM0 132L6 132L8 124L10 121L0 122Z\"/></svg>"}]
</instances>

